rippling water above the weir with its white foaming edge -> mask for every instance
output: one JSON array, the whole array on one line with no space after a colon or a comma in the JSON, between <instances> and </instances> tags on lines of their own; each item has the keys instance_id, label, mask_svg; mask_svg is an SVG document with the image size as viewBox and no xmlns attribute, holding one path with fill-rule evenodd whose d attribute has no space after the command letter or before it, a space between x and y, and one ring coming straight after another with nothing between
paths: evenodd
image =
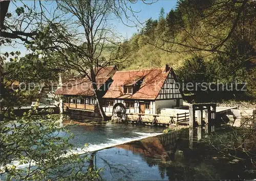
<instances>
[{"instance_id":1,"label":"rippling water above the weir with its white foaming edge","mask_svg":"<svg viewBox=\"0 0 256 181\"><path fill-rule=\"evenodd\" d=\"M80 150L78 153L92 152L147 137L157 136L164 130L163 127L112 123L90 126L75 124L69 125L68 129L75 135L71 143ZM86 147L84 147L85 143L88 144Z\"/></svg>"}]
</instances>

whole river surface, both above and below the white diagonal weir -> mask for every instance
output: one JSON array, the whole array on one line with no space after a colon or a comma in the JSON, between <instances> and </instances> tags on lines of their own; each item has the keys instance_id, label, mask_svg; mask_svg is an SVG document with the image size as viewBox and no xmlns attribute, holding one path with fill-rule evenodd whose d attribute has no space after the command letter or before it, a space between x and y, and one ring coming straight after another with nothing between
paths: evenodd
<instances>
[{"instance_id":1,"label":"whole river surface, both above and below the white diagonal weir","mask_svg":"<svg viewBox=\"0 0 256 181\"><path fill-rule=\"evenodd\" d=\"M201 127L168 134L161 134L163 127L131 124L68 128L77 147L88 143L89 151L101 149L91 156L93 168L103 168L103 180L256 178L250 163L217 151L210 144L210 133ZM216 128L214 134L221 136L226 130Z\"/></svg>"}]
</instances>

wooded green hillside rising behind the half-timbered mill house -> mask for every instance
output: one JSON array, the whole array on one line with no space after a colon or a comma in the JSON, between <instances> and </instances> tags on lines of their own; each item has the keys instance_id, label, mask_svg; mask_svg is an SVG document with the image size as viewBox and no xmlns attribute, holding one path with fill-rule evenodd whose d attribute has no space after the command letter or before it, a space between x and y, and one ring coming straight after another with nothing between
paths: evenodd
<instances>
[{"instance_id":1,"label":"wooded green hillside rising behind the half-timbered mill house","mask_svg":"<svg viewBox=\"0 0 256 181\"><path fill-rule=\"evenodd\" d=\"M158 20L148 19L141 33L126 43L136 44L136 53L120 67L169 64L187 82L247 81L245 93L255 98L255 82L248 79L256 67L255 7L254 1L246 0L181 0L166 18L161 9Z\"/></svg>"}]
</instances>

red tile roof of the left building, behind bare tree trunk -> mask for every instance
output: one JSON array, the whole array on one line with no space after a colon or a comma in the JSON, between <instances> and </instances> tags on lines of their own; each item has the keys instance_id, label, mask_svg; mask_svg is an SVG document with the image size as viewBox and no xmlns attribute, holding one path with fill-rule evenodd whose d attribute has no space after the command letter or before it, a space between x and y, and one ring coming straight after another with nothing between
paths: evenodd
<instances>
[{"instance_id":1,"label":"red tile roof of the left building, behind bare tree trunk","mask_svg":"<svg viewBox=\"0 0 256 181\"><path fill-rule=\"evenodd\" d=\"M97 88L99 89L105 82L111 79L112 70L115 69L115 66L108 67L98 67L96 68L96 83ZM88 77L81 78L83 75L79 75L76 77L80 77L78 79L70 79L69 81L63 83L62 87L55 91L55 94L60 95L94 95L92 82L88 79Z\"/></svg>"}]
</instances>

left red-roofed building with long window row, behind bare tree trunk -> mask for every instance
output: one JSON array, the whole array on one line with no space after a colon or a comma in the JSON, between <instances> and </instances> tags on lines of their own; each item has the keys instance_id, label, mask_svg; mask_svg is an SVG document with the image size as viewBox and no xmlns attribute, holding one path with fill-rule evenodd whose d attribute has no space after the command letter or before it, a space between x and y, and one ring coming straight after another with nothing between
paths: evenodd
<instances>
[{"instance_id":1,"label":"left red-roofed building with long window row, behind bare tree trunk","mask_svg":"<svg viewBox=\"0 0 256 181\"><path fill-rule=\"evenodd\" d=\"M108 90L116 71L116 66L96 68L96 83L100 97ZM61 83L55 94L60 97L60 105L63 106L64 111L71 109L95 112L97 109L92 82L84 74L78 74L73 79Z\"/></svg>"}]
</instances>

